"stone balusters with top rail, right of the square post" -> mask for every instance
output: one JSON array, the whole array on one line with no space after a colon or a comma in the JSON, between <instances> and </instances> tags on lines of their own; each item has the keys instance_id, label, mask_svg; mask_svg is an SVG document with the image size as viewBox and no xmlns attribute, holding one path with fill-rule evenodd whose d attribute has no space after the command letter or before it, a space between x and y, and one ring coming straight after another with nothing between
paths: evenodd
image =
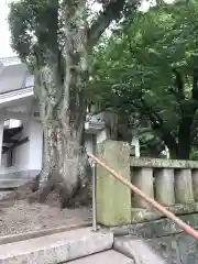
<instances>
[{"instance_id":1,"label":"stone balusters with top rail, right of the square post","mask_svg":"<svg viewBox=\"0 0 198 264\"><path fill-rule=\"evenodd\" d=\"M198 201L198 162L130 158L131 180L163 206ZM150 206L134 195L133 207Z\"/></svg>"}]
</instances>

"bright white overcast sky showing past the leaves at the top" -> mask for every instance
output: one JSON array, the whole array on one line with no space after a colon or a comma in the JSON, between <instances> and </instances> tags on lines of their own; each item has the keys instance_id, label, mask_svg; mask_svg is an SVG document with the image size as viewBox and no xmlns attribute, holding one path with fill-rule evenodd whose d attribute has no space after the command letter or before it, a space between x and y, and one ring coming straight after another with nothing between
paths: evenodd
<instances>
[{"instance_id":1,"label":"bright white overcast sky showing past the leaves at the top","mask_svg":"<svg viewBox=\"0 0 198 264\"><path fill-rule=\"evenodd\" d=\"M144 10L148 8L148 3L146 0L144 1ZM10 47L10 32L7 22L9 7L8 3L11 0L0 0L0 33L1 33L1 41L0 41L0 57L10 57L14 56L15 54Z\"/></svg>"}]
</instances>

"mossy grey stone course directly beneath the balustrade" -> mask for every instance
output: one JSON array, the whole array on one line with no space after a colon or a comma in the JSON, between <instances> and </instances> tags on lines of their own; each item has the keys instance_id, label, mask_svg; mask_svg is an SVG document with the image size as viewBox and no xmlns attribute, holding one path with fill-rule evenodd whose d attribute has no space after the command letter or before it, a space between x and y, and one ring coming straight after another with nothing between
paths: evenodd
<instances>
[{"instance_id":1,"label":"mossy grey stone course directly beneath the balustrade","mask_svg":"<svg viewBox=\"0 0 198 264\"><path fill-rule=\"evenodd\" d=\"M194 229L198 229L198 212L193 215L186 215L179 217L183 221L191 226ZM122 227L111 228L114 235L128 235L131 234L134 238L157 238L166 237L169 234L176 234L182 232L182 229L169 219L161 219L155 221L148 221L138 224L128 224Z\"/></svg>"}]
</instances>

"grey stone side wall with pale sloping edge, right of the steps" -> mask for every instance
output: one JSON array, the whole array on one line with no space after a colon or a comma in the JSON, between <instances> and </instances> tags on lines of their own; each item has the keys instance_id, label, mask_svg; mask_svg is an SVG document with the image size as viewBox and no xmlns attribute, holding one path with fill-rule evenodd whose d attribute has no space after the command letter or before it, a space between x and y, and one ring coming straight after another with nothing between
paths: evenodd
<instances>
[{"instance_id":1,"label":"grey stone side wall with pale sloping edge, right of the steps","mask_svg":"<svg viewBox=\"0 0 198 264\"><path fill-rule=\"evenodd\" d=\"M134 258L135 264L197 264L198 243L186 233L148 240L131 235L117 238L114 249Z\"/></svg>"}]
</instances>

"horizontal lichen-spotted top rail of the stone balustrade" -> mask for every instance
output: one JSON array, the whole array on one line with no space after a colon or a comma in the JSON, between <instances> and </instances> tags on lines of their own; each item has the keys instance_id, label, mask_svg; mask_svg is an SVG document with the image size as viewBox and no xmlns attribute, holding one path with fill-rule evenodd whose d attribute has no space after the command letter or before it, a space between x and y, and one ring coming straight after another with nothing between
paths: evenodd
<instances>
[{"instance_id":1,"label":"horizontal lichen-spotted top rail of the stone balustrade","mask_svg":"<svg viewBox=\"0 0 198 264\"><path fill-rule=\"evenodd\" d=\"M155 167L155 168L198 168L194 161L130 157L131 167Z\"/></svg>"}]
</instances>

